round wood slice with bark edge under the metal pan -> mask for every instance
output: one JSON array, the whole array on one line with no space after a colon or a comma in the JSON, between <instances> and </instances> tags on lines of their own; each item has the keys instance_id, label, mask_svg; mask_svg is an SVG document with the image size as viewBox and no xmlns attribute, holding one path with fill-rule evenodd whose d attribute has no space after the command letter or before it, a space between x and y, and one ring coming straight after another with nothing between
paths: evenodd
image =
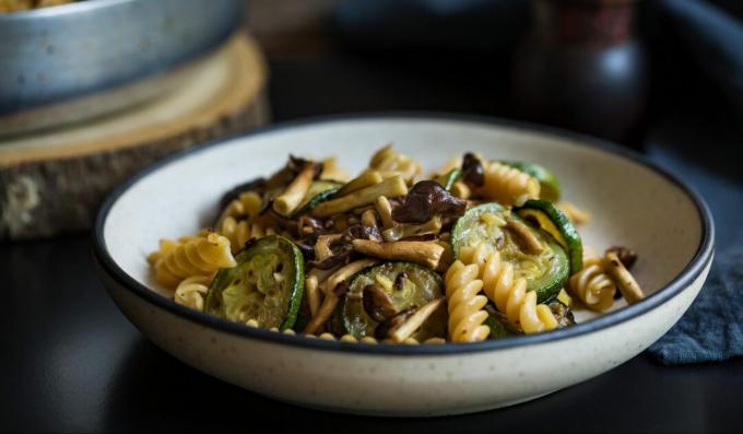
<instances>
[{"instance_id":1,"label":"round wood slice with bark edge under the metal pan","mask_svg":"<svg viewBox=\"0 0 743 434\"><path fill-rule=\"evenodd\" d=\"M83 124L0 140L0 239L90 228L119 183L176 151L269 120L267 67L239 33L162 97Z\"/></svg>"}]
</instances>

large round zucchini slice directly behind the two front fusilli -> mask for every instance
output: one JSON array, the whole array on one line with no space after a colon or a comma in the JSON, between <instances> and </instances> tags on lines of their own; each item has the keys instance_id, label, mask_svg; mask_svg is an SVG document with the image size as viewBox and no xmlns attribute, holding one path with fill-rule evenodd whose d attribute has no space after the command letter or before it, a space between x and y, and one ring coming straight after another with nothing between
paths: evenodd
<instances>
[{"instance_id":1,"label":"large round zucchini slice directly behind the two front fusilli","mask_svg":"<svg viewBox=\"0 0 743 434\"><path fill-rule=\"evenodd\" d=\"M511 232L504 228L508 219L526 223L527 230L543 247L540 254L529 255L521 250ZM570 271L570 261L559 243L497 202L469 209L451 231L451 244L458 258L465 246L484 244L490 251L498 250L500 258L512 263L518 275L527 279L528 290L536 292L540 303L559 292Z\"/></svg>"}]
</instances>

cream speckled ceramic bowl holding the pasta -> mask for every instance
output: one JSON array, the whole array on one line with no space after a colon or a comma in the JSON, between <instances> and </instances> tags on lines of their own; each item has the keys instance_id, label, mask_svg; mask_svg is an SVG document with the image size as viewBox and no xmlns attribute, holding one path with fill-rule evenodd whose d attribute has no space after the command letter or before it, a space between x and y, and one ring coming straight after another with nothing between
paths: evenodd
<instances>
[{"instance_id":1,"label":"cream speckled ceramic bowl holding the pasta","mask_svg":"<svg viewBox=\"0 0 743 434\"><path fill-rule=\"evenodd\" d=\"M426 169L462 151L551 167L565 197L587 208L585 244L632 246L648 294L633 306L581 315L557 331L471 344L332 342L251 329L176 305L145 256L161 237L213 219L235 184L280 167L288 153L335 154L358 171L393 141ZM278 125L187 151L126 183L94 233L105 285L155 344L246 389L302 406L384 415L474 412L526 401L599 375L660 338L699 292L712 260L703 200L675 177L617 146L541 127L462 116L331 118Z\"/></svg>"}]
</instances>

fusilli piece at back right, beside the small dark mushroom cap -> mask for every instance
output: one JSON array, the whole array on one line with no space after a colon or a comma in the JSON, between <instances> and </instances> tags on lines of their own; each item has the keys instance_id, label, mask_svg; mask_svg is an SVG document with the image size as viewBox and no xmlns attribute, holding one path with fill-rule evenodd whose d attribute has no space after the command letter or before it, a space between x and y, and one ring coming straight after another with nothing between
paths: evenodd
<instances>
[{"instance_id":1,"label":"fusilli piece at back right, beside the small dark mushroom cap","mask_svg":"<svg viewBox=\"0 0 743 434\"><path fill-rule=\"evenodd\" d=\"M505 206L520 206L528 199L539 199L539 180L519 169L490 162L485 165L485 184L477 192Z\"/></svg>"}]
</instances>

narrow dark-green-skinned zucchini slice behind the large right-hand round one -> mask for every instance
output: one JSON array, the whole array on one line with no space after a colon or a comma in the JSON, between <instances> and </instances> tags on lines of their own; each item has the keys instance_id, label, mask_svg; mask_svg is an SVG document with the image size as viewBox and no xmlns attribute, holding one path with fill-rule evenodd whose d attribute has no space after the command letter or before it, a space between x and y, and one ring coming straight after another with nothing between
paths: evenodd
<instances>
[{"instance_id":1,"label":"narrow dark-green-skinned zucchini slice behind the large right-hand round one","mask_svg":"<svg viewBox=\"0 0 743 434\"><path fill-rule=\"evenodd\" d=\"M551 202L546 200L528 200L516 213L523 220L534 224L559 243L570 258L570 274L583 268L583 243L570 220Z\"/></svg>"}]
</instances>

